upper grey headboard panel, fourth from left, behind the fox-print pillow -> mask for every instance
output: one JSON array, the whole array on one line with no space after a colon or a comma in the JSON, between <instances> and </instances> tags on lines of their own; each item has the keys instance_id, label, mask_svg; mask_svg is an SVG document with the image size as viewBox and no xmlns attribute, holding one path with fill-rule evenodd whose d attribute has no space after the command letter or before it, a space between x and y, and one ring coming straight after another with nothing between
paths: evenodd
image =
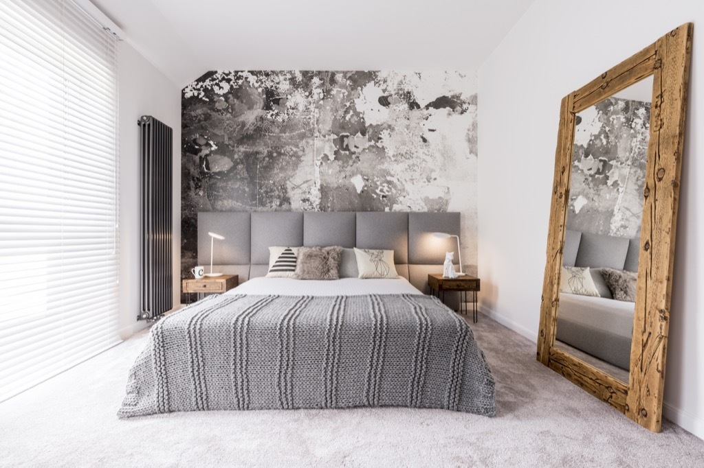
<instances>
[{"instance_id":1,"label":"upper grey headboard panel, fourth from left, behind the fox-print pillow","mask_svg":"<svg viewBox=\"0 0 704 468\"><path fill-rule=\"evenodd\" d=\"M358 212L359 249L394 251L394 264L408 263L408 213Z\"/></svg>"}]
</instances>

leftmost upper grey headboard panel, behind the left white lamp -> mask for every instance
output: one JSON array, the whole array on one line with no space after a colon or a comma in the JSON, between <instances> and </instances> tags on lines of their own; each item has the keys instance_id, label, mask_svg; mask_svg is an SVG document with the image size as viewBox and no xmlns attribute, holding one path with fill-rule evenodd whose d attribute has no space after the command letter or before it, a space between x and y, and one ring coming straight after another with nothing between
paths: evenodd
<instances>
[{"instance_id":1,"label":"leftmost upper grey headboard panel, behind the left white lamp","mask_svg":"<svg viewBox=\"0 0 704 468\"><path fill-rule=\"evenodd\" d=\"M213 242L213 264L249 265L249 213L198 214L198 264L210 264L210 236L208 232L225 236Z\"/></svg>"}]
</instances>

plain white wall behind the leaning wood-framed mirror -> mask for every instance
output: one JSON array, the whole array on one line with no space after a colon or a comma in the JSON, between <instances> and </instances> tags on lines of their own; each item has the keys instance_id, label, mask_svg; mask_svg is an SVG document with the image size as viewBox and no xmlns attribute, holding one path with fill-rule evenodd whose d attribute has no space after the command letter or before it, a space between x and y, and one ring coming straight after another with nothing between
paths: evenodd
<instances>
[{"instance_id":1,"label":"plain white wall behind the leaning wood-framed mirror","mask_svg":"<svg viewBox=\"0 0 704 468\"><path fill-rule=\"evenodd\" d=\"M607 14L608 13L608 14ZM694 22L677 225L665 417L704 438L704 7L699 2L537 0L479 69L482 308L536 341L560 99ZM699 29L698 29L699 28Z\"/></svg>"}]
</instances>

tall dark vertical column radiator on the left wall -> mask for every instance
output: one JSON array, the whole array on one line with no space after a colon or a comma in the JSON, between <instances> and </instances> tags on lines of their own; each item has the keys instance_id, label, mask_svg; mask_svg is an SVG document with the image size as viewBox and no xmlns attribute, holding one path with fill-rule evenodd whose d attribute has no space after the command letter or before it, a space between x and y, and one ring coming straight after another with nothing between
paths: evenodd
<instances>
[{"instance_id":1,"label":"tall dark vertical column radiator on the left wall","mask_svg":"<svg viewBox=\"0 0 704 468\"><path fill-rule=\"evenodd\" d=\"M172 129L149 115L137 123L142 134L142 313L138 319L155 319L173 306Z\"/></svg>"}]
</instances>

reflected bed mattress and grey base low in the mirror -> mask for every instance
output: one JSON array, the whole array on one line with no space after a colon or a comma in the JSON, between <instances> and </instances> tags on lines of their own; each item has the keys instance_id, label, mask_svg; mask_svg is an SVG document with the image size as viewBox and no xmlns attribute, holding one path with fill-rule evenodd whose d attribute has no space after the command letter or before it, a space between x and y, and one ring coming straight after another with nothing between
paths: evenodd
<instances>
[{"instance_id":1,"label":"reflected bed mattress and grey base low in the mirror","mask_svg":"<svg viewBox=\"0 0 704 468\"><path fill-rule=\"evenodd\" d=\"M556 339L628 370L635 304L560 293Z\"/></svg>"}]
</instances>

